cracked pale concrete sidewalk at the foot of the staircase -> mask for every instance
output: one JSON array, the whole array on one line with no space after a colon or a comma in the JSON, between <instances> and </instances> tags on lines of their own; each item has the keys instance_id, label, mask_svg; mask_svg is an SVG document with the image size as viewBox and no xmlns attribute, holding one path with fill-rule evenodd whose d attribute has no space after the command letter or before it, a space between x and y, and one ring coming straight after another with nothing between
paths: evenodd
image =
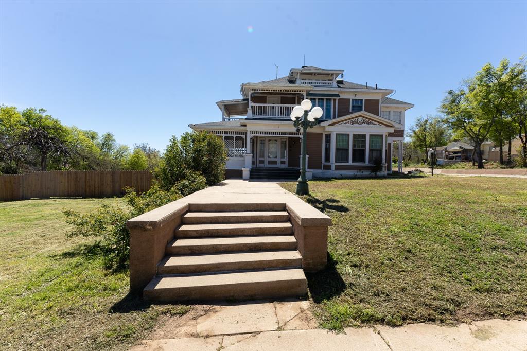
<instances>
[{"instance_id":1,"label":"cracked pale concrete sidewalk at the foot of the staircase","mask_svg":"<svg viewBox=\"0 0 527 351\"><path fill-rule=\"evenodd\" d=\"M147 350L525 350L527 320L490 319L454 327L316 329L307 300L194 306L134 351Z\"/></svg>"}]
</instances>

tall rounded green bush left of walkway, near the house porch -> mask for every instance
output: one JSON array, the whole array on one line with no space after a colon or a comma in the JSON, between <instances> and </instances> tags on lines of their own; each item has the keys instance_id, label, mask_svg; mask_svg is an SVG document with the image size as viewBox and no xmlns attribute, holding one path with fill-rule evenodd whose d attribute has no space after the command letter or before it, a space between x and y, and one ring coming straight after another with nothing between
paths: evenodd
<instances>
[{"instance_id":1,"label":"tall rounded green bush left of walkway, near the house porch","mask_svg":"<svg viewBox=\"0 0 527 351\"><path fill-rule=\"evenodd\" d=\"M212 185L224 179L226 162L221 138L207 132L187 132L180 139L170 139L155 176L164 190L185 180L189 171L201 173L207 185Z\"/></svg>"}]
</instances>

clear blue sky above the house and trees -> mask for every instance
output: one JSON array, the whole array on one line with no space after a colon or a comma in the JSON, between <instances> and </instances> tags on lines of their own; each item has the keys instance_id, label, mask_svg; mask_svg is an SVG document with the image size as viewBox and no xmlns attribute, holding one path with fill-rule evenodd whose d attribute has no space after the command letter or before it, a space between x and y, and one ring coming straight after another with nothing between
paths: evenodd
<instances>
[{"instance_id":1,"label":"clear blue sky above the house and trees","mask_svg":"<svg viewBox=\"0 0 527 351\"><path fill-rule=\"evenodd\" d=\"M161 150L304 54L396 89L415 104L408 124L486 62L525 53L527 2L0 1L0 103Z\"/></svg>"}]
</instances>

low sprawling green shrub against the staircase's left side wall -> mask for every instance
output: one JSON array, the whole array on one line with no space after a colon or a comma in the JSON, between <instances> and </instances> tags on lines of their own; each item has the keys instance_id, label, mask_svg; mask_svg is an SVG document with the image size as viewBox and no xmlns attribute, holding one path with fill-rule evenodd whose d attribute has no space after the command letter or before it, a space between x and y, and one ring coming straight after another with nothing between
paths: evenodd
<instances>
[{"instance_id":1,"label":"low sprawling green shrub against the staircase's left side wall","mask_svg":"<svg viewBox=\"0 0 527 351\"><path fill-rule=\"evenodd\" d=\"M99 237L106 268L118 269L128 266L130 255L130 232L126 221L171 201L181 198L177 190L164 191L154 184L152 188L137 196L133 189L126 189L125 208L101 204L88 214L64 210L66 222L73 226L68 237Z\"/></svg>"}]
</instances>

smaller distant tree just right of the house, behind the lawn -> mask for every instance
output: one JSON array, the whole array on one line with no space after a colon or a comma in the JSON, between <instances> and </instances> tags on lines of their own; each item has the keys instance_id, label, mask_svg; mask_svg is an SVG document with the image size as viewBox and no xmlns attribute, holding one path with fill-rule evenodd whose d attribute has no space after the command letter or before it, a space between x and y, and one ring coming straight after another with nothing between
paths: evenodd
<instances>
[{"instance_id":1,"label":"smaller distant tree just right of the house, behind the lawn","mask_svg":"<svg viewBox=\"0 0 527 351\"><path fill-rule=\"evenodd\" d=\"M451 133L441 118L426 115L426 117L419 117L415 124L409 127L408 137L415 148L424 151L424 163L428 163L428 152L430 150L435 152L438 146L447 144Z\"/></svg>"}]
</instances>

